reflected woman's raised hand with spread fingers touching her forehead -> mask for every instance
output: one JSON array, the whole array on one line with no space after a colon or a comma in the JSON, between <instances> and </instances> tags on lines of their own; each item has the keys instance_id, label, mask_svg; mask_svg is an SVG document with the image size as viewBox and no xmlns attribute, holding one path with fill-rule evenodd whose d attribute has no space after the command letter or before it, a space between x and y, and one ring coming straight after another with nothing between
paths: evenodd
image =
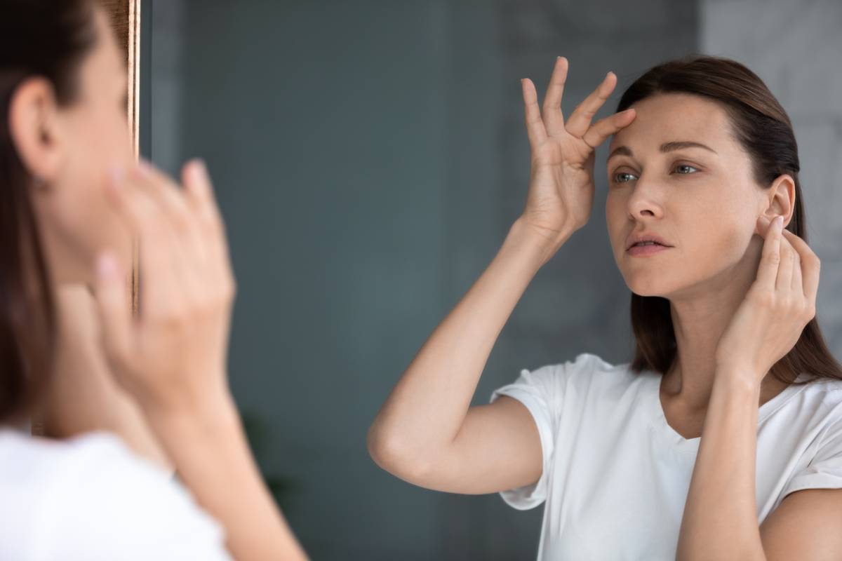
<instances>
[{"instance_id":1,"label":"reflected woman's raised hand with spread fingers touching her forehead","mask_svg":"<svg viewBox=\"0 0 842 561\"><path fill-rule=\"evenodd\" d=\"M594 149L635 117L634 109L626 109L591 124L616 87L616 75L609 72L565 123L561 103L567 75L568 60L559 56L546 90L543 115L535 84L529 78L521 80L532 151L529 193L521 218L546 238L553 251L588 222L594 205Z\"/></svg>"}]
</instances>

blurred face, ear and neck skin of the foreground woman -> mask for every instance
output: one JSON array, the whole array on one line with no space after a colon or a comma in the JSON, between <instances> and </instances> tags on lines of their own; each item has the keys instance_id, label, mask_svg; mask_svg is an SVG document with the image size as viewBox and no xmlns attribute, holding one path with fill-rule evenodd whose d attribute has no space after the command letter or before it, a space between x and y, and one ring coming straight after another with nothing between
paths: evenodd
<instances>
[{"instance_id":1,"label":"blurred face, ear and neck skin of the foreground woman","mask_svg":"<svg viewBox=\"0 0 842 561\"><path fill-rule=\"evenodd\" d=\"M141 411L105 366L93 298L84 288L93 284L99 251L109 249L131 271L131 231L103 196L109 166L134 161L125 64L113 34L102 32L104 21L98 13L100 45L80 68L75 103L59 106L50 82L36 78L19 88L10 108L24 165L45 182L31 193L61 318L56 373L33 421L51 437L114 431L136 453L171 469Z\"/></svg>"}]
</instances>

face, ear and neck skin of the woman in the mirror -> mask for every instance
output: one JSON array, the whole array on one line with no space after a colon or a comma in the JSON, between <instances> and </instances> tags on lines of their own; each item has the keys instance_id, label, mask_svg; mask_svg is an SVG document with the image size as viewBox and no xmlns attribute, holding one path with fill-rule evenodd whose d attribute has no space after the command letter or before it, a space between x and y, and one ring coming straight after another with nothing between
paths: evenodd
<instances>
[{"instance_id":1,"label":"face, ear and neck skin of the woman in the mirror","mask_svg":"<svg viewBox=\"0 0 842 561\"><path fill-rule=\"evenodd\" d=\"M759 186L727 114L711 100L670 93L644 99L635 109L635 122L610 143L605 217L628 287L669 299L679 360L663 378L661 400L670 424L685 437L698 437L717 342L757 273L763 245L758 217L783 214L788 223L795 184L784 175L770 188ZM660 150L678 141L712 151ZM650 257L630 256L626 236L644 230L673 247ZM770 377L763 389L765 401L784 386Z\"/></svg>"}]
</instances>

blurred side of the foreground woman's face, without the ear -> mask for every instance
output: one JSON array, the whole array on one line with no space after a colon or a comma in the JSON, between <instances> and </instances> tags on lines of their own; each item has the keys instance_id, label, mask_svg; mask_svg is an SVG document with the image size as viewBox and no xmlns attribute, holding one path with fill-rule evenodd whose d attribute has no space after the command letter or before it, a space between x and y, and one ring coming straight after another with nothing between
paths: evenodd
<instances>
[{"instance_id":1,"label":"blurred side of the foreground woman's face, without the ear","mask_svg":"<svg viewBox=\"0 0 842 561\"><path fill-rule=\"evenodd\" d=\"M114 251L131 267L131 233L106 198L115 164L134 161L126 115L127 71L106 15L96 10L98 42L79 69L78 95L56 108L53 131L58 162L47 188L33 190L53 276L60 283L93 281L99 251Z\"/></svg>"}]
</instances>

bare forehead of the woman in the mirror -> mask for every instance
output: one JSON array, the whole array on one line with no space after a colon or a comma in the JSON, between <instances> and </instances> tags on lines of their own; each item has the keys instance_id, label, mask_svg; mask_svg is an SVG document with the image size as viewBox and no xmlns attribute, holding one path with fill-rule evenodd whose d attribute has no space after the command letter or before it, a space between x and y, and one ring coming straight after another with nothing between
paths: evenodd
<instances>
[{"instance_id":1,"label":"bare forehead of the woman in the mirror","mask_svg":"<svg viewBox=\"0 0 842 561\"><path fill-rule=\"evenodd\" d=\"M637 116L611 139L610 151L628 146L636 154L664 142L695 141L719 147L733 144L730 121L719 103L688 93L659 93L632 105Z\"/></svg>"}]
</instances>

